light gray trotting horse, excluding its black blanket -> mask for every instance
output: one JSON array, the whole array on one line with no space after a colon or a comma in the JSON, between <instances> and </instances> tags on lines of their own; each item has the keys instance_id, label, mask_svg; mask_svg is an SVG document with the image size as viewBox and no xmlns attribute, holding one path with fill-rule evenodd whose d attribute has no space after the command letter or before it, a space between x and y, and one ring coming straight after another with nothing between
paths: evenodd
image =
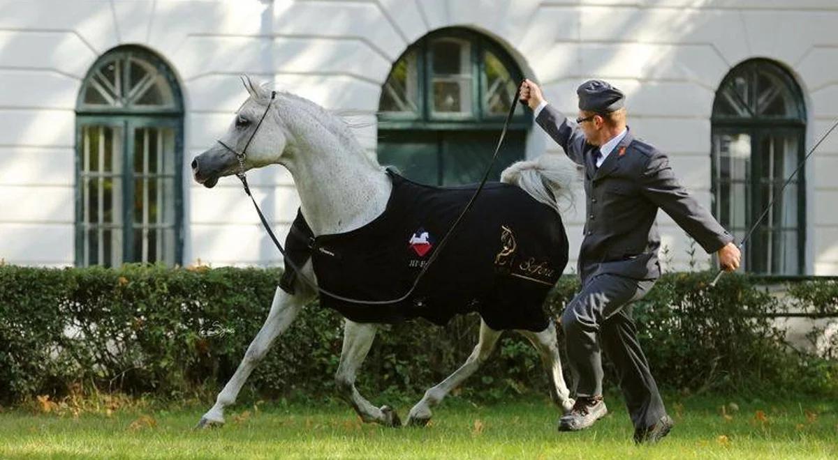
<instances>
[{"instance_id":1,"label":"light gray trotting horse, excluding its black blanket","mask_svg":"<svg viewBox=\"0 0 838 460\"><path fill-rule=\"evenodd\" d=\"M291 172L301 201L301 210L314 235L345 233L364 227L385 211L393 184L385 168L370 158L342 118L313 102L285 92L276 93L263 84L243 79L250 94L235 113L220 142L194 158L195 181L211 188L220 176L231 176L240 170L235 153L226 148L246 147L245 170L269 165L282 165ZM256 126L260 119L264 120ZM254 135L255 133L255 135ZM252 139L251 139L252 135ZM223 142L223 144L222 144ZM241 150L240 150L241 151ZM535 161L520 161L504 170L502 181L525 190L556 212L556 197L569 197L573 171L551 156ZM311 259L301 267L308 279L316 279ZM456 283L457 280L452 280ZM316 283L316 280L315 280ZM271 310L256 338L248 346L241 364L219 393L215 405L199 422L199 427L224 423L224 410L235 402L241 386L257 363L265 356L277 336L317 294L297 277L296 294L277 288ZM338 293L339 294L339 293ZM552 321L540 332L519 330L541 355L551 381L551 396L563 411L573 401L561 373L556 327ZM390 406L374 406L354 386L360 368L375 339L378 325L345 319L344 345L335 375L337 387L364 422L401 426L401 420ZM466 362L451 376L427 390L422 400L411 408L406 425L424 425L437 405L489 357L502 331L489 328L481 319L478 344Z\"/></svg>"}]
</instances>

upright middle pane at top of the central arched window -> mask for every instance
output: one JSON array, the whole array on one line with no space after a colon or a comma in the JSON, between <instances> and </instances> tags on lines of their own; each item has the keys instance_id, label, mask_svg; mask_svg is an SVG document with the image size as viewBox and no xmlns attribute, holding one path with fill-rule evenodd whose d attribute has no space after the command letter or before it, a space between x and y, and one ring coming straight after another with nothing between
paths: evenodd
<instances>
[{"instance_id":1,"label":"upright middle pane at top of the central arched window","mask_svg":"<svg viewBox=\"0 0 838 460\"><path fill-rule=\"evenodd\" d=\"M432 42L432 112L466 115L472 112L471 44L444 38Z\"/></svg>"}]
</instances>

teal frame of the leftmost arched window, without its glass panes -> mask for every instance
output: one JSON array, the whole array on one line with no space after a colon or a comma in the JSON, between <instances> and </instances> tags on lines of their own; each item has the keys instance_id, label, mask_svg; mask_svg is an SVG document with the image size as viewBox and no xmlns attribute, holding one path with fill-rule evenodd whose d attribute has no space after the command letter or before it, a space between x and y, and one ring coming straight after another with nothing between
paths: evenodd
<instances>
[{"instance_id":1,"label":"teal frame of the leftmost arched window, without its glass panes","mask_svg":"<svg viewBox=\"0 0 838 460\"><path fill-rule=\"evenodd\" d=\"M111 59L136 56L153 64L163 74L169 88L173 91L174 107L172 108L115 108L115 107L91 107L85 105L83 98L87 84L92 74L103 63ZM125 82L127 84L127 82ZM174 263L182 264L184 258L184 105L183 95L172 69L168 67L163 59L156 54L137 46L127 45L111 49L102 54L96 63L91 66L85 76L82 89L76 102L75 116L75 265L83 266L85 261L84 238L84 206L82 191L82 167L81 159L84 155L82 133L83 128L89 125L104 125L119 127L122 129L122 263L136 262L136 254L133 253L133 231L134 231L134 130L137 128L169 128L173 130L174 136L174 174L173 174L173 202L174 202ZM159 238L159 237L158 237ZM101 264L102 261L98 261Z\"/></svg>"}]
</instances>

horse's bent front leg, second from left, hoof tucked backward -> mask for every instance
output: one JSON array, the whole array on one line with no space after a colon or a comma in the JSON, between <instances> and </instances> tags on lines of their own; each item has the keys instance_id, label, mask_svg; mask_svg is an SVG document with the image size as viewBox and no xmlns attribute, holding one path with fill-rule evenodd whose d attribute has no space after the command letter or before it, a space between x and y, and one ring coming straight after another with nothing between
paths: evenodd
<instances>
[{"instance_id":1,"label":"horse's bent front leg, second from left, hoof tucked backward","mask_svg":"<svg viewBox=\"0 0 838 460\"><path fill-rule=\"evenodd\" d=\"M373 406L355 388L355 375L375 340L375 325L355 323L346 319L344 348L334 375L340 396L354 407L364 422L377 422L388 427L401 427L401 420L391 406Z\"/></svg>"}]
</instances>

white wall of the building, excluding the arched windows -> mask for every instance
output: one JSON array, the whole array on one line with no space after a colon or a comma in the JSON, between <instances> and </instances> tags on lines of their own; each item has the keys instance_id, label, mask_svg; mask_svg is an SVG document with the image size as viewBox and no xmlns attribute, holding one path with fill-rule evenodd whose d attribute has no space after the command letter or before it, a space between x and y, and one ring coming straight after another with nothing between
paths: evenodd
<instances>
[{"instance_id":1,"label":"white wall of the building, excluding the arched windows","mask_svg":"<svg viewBox=\"0 0 838 460\"><path fill-rule=\"evenodd\" d=\"M272 79L374 121L380 85L410 43L436 28L476 28L504 43L568 113L576 111L582 80L618 85L635 135L668 152L685 185L709 206L709 119L724 75L753 57L788 66L810 103L811 146L838 116L835 23L834 0L2 0L0 258L73 263L75 98L87 69L118 44L142 44L172 65L183 84L189 160L245 98L237 74ZM375 128L359 136L374 151ZM538 128L531 136L528 155L544 148L561 155ZM806 174L807 270L838 274L838 135ZM297 206L290 176L278 167L253 176L282 233ZM212 190L189 181L186 190L185 263L278 262L235 178ZM581 242L581 201L577 210L565 219L569 269ZM675 268L684 268L688 240L661 216Z\"/></svg>"}]
</instances>

